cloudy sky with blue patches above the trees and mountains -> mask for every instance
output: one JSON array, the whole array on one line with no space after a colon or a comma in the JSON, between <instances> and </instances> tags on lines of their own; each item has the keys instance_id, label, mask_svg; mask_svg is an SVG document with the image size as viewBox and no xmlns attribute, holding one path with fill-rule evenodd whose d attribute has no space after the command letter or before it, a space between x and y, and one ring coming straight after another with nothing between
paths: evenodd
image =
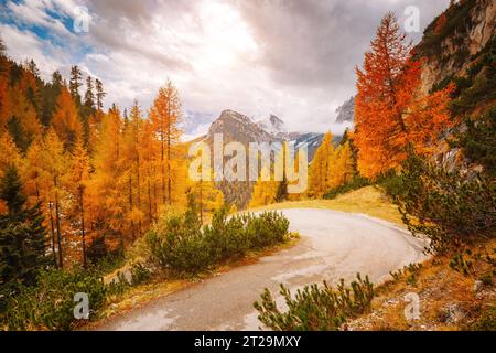
<instances>
[{"instance_id":1,"label":"cloudy sky with blue patches above the trees and mountains","mask_svg":"<svg viewBox=\"0 0 496 353\"><path fill-rule=\"evenodd\" d=\"M104 81L107 105L128 107L137 98L147 111L170 77L184 110L205 126L229 108L256 119L276 114L291 130L324 131L355 94L355 66L380 18L393 11L403 24L405 11L417 7L420 31L409 35L418 41L449 0L0 3L11 57L34 58L44 78L55 69L67 76L77 64Z\"/></svg>"}]
</instances>

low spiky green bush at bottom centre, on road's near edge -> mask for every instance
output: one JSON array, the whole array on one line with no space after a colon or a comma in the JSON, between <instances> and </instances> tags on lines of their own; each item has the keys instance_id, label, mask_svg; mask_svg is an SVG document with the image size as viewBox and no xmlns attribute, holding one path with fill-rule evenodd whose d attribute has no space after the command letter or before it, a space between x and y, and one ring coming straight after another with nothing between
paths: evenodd
<instances>
[{"instance_id":1,"label":"low spiky green bush at bottom centre, on road's near edge","mask_svg":"<svg viewBox=\"0 0 496 353\"><path fill-rule=\"evenodd\" d=\"M349 287L343 279L336 289L324 281L323 288L312 285L299 289L294 298L284 285L280 287L288 311L279 310L267 288L261 301L254 303L258 319L276 331L337 331L346 320L368 311L374 298L373 284L359 274Z\"/></svg>"}]
</instances>

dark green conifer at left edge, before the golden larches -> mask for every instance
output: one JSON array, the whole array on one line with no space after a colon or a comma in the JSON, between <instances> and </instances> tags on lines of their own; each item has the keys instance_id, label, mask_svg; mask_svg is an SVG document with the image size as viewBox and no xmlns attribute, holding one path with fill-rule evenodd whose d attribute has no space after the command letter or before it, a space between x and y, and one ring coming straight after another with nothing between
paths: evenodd
<instances>
[{"instance_id":1,"label":"dark green conifer at left edge, before the golden larches","mask_svg":"<svg viewBox=\"0 0 496 353\"><path fill-rule=\"evenodd\" d=\"M36 282L41 269L50 264L46 256L47 232L40 204L29 207L15 167L7 168L0 179L0 199L8 212L0 215L0 285Z\"/></svg>"}]
</instances>

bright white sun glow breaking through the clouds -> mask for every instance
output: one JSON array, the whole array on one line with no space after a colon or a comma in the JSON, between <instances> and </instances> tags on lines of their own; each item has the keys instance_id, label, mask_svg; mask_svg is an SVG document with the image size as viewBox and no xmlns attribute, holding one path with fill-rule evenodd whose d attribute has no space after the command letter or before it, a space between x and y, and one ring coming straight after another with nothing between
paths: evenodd
<instances>
[{"instance_id":1,"label":"bright white sun glow breaking through the clouds","mask_svg":"<svg viewBox=\"0 0 496 353\"><path fill-rule=\"evenodd\" d=\"M227 3L205 1L200 7L202 21L197 71L231 68L254 60L258 45L238 11Z\"/></svg>"}]
</instances>

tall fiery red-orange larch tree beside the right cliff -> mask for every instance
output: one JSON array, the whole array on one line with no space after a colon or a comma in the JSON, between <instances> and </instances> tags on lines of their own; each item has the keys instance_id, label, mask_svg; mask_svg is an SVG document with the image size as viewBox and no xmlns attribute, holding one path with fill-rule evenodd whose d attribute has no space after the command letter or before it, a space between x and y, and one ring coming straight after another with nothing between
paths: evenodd
<instances>
[{"instance_id":1,"label":"tall fiery red-orange larch tree beside the right cliff","mask_svg":"<svg viewBox=\"0 0 496 353\"><path fill-rule=\"evenodd\" d=\"M431 154L451 125L452 87L422 96L421 62L392 13L380 22L363 68L357 68L356 132L358 170L375 178L399 168L408 148Z\"/></svg>"}]
</instances>

